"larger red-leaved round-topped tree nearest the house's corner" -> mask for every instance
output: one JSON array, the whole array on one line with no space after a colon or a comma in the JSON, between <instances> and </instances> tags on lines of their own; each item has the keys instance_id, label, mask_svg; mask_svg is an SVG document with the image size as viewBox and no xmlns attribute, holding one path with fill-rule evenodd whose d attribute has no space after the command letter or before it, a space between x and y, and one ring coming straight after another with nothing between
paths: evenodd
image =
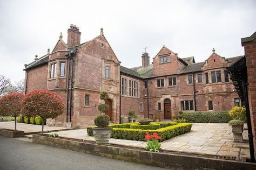
<instances>
[{"instance_id":1,"label":"larger red-leaved round-topped tree nearest the house's corner","mask_svg":"<svg viewBox=\"0 0 256 170\"><path fill-rule=\"evenodd\" d=\"M48 90L36 90L24 97L22 111L28 116L42 117L41 134L43 134L46 119L53 119L62 115L64 103L56 93L52 93Z\"/></svg>"}]
</instances>

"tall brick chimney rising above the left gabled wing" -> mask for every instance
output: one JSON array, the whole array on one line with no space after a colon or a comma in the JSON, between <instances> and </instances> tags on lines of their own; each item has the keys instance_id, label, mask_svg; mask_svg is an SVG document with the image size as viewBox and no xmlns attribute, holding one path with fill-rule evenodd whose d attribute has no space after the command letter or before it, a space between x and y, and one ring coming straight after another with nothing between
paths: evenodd
<instances>
[{"instance_id":1,"label":"tall brick chimney rising above the left gabled wing","mask_svg":"<svg viewBox=\"0 0 256 170\"><path fill-rule=\"evenodd\" d=\"M76 46L80 44L81 32L79 32L79 27L73 24L70 24L68 29L68 45Z\"/></svg>"}]
</instances>

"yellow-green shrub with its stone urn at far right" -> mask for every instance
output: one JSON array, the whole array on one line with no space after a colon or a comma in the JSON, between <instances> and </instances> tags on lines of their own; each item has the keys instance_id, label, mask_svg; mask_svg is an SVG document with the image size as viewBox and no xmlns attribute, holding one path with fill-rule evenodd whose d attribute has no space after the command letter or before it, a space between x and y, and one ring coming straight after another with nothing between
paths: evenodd
<instances>
[{"instance_id":1,"label":"yellow-green shrub with its stone urn at far right","mask_svg":"<svg viewBox=\"0 0 256 170\"><path fill-rule=\"evenodd\" d=\"M228 122L232 126L234 141L242 142L242 132L244 131L244 123L246 122L246 111L244 107L234 107L229 112L232 121Z\"/></svg>"}]
</instances>

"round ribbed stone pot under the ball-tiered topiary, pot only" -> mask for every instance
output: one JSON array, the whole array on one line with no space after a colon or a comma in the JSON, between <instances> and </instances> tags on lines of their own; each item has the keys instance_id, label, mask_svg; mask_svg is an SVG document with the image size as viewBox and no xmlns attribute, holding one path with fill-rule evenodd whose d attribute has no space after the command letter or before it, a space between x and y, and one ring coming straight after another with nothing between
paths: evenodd
<instances>
[{"instance_id":1,"label":"round ribbed stone pot under the ball-tiered topiary, pot only","mask_svg":"<svg viewBox=\"0 0 256 170\"><path fill-rule=\"evenodd\" d=\"M92 128L92 130L96 144L105 145L109 143L112 127L108 126L107 128Z\"/></svg>"}]
</instances>

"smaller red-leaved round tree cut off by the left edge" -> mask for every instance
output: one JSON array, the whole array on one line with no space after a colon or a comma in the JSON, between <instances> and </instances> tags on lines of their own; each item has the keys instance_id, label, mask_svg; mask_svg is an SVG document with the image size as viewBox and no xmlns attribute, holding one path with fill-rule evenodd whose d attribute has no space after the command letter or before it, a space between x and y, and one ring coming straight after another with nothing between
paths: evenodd
<instances>
[{"instance_id":1,"label":"smaller red-leaved round tree cut off by the left edge","mask_svg":"<svg viewBox=\"0 0 256 170\"><path fill-rule=\"evenodd\" d=\"M13 93L0 98L0 114L2 116L13 116L15 118L15 131L17 130L17 116L21 114L22 100L25 95Z\"/></svg>"}]
</instances>

